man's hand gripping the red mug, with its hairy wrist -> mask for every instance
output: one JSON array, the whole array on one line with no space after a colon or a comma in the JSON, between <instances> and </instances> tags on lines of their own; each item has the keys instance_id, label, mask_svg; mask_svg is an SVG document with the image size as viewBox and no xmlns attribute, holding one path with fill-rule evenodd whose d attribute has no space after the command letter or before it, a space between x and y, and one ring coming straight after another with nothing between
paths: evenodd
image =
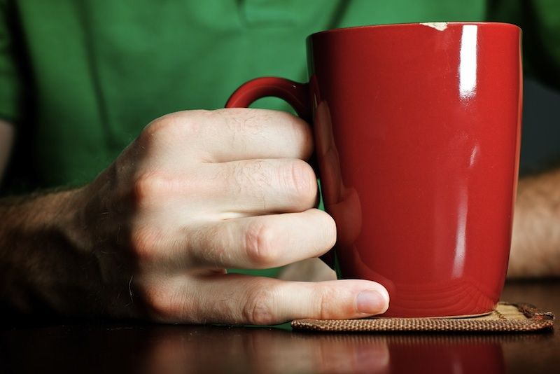
<instances>
[{"instance_id":1,"label":"man's hand gripping the red mug, with its hairy wrist","mask_svg":"<svg viewBox=\"0 0 560 374\"><path fill-rule=\"evenodd\" d=\"M47 246L57 264L27 266L39 273L56 268L56 282L35 274L32 286L41 289L41 279L51 279L48 291L27 294L50 298L59 313L165 322L275 324L384 312L388 294L374 282L225 274L225 268L272 268L320 256L335 243L334 221L314 209L316 176L304 162L311 151L309 125L288 113L184 111L154 120L89 186L57 202L51 197L50 204L43 196L19 211L9 208L25 216L43 201L52 209L50 224L35 219L33 227L59 232L59 244ZM6 237L14 235L1 234L0 248L13 243ZM29 243L25 253L41 251ZM47 257L38 258L48 263ZM60 267L72 268L71 276Z\"/></svg>"}]
</instances>

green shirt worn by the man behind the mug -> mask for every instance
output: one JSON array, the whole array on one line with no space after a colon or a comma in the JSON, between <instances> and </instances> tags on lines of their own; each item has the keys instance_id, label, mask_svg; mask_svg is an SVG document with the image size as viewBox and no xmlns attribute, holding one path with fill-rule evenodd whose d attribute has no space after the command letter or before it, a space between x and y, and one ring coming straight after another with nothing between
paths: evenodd
<instances>
[{"instance_id":1,"label":"green shirt worn by the man behind the mug","mask_svg":"<svg viewBox=\"0 0 560 374\"><path fill-rule=\"evenodd\" d=\"M530 32L547 36L531 53L547 50L538 68L552 71L560 61L552 0L493 8L484 0L0 0L0 117L19 134L6 184L87 183L154 118L220 108L256 76L304 81L304 39L313 32L489 18L523 24L521 3L539 20ZM257 106L287 108L277 99Z\"/></svg>"}]
</instances>

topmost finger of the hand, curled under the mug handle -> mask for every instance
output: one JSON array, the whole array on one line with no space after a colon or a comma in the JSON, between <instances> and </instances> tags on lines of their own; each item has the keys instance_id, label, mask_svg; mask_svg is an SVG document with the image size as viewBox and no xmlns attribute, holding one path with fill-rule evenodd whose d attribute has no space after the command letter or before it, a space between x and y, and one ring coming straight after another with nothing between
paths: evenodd
<instances>
[{"instance_id":1,"label":"topmost finger of the hand, curled under the mug handle","mask_svg":"<svg viewBox=\"0 0 560 374\"><path fill-rule=\"evenodd\" d=\"M164 118L192 130L183 134L188 145L182 151L207 162L253 158L307 160L313 151L310 126L283 111L230 108L183 111Z\"/></svg>"}]
</instances>

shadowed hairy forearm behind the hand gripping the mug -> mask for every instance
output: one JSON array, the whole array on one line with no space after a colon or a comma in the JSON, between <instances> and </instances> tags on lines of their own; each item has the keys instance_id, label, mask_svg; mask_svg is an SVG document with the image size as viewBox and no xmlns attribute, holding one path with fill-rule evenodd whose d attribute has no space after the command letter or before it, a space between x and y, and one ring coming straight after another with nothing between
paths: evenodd
<instances>
[{"instance_id":1,"label":"shadowed hairy forearm behind the hand gripping the mug","mask_svg":"<svg viewBox=\"0 0 560 374\"><path fill-rule=\"evenodd\" d=\"M72 295L92 291L98 275L76 245L77 199L78 191L64 191L0 200L1 308L83 314Z\"/></svg>"}]
</instances>

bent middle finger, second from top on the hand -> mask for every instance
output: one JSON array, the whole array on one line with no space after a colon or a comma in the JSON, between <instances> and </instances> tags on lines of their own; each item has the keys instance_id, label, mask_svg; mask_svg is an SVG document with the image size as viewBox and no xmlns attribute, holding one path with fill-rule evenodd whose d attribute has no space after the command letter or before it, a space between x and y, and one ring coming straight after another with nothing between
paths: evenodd
<instances>
[{"instance_id":1,"label":"bent middle finger, second from top on the hand","mask_svg":"<svg viewBox=\"0 0 560 374\"><path fill-rule=\"evenodd\" d=\"M316 206L317 178L298 159L243 160L212 164L203 172L215 193L220 218L303 212Z\"/></svg>"}]
</instances>

